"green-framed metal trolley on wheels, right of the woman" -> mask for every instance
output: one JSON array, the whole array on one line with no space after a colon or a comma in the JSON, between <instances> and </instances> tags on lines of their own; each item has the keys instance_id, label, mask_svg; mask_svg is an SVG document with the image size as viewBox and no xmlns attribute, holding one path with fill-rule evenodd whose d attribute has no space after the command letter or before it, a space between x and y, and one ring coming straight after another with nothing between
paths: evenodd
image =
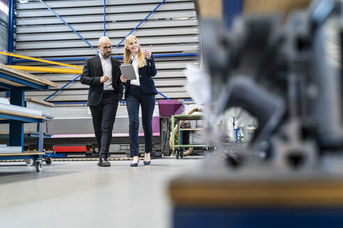
<instances>
[{"instance_id":1,"label":"green-framed metal trolley on wheels, right of the woman","mask_svg":"<svg viewBox=\"0 0 343 228\"><path fill-rule=\"evenodd\" d=\"M204 115L199 114L199 115L172 115L172 147L175 149L175 155L176 159L180 156L183 158L183 152L185 147L203 147L203 152L204 154L208 154L210 151L210 144L208 142L202 143L202 144L190 144L190 145L183 145L182 144L182 138L181 138L181 131L199 131L202 129L199 128L181 128L180 122L183 120L203 120ZM177 144L175 143L175 123L177 124L178 127L178 138L177 138Z\"/></svg>"}]
</instances>

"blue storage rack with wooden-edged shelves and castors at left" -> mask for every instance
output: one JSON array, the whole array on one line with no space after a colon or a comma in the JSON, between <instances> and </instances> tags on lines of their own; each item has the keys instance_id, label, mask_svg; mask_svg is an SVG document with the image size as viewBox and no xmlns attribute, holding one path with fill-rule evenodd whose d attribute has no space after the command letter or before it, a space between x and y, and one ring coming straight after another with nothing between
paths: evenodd
<instances>
[{"instance_id":1,"label":"blue storage rack with wooden-edged shelves and castors at left","mask_svg":"<svg viewBox=\"0 0 343 228\"><path fill-rule=\"evenodd\" d=\"M10 91L11 105L24 107L24 92L26 90L49 90L50 87L56 87L56 83L0 64L0 92ZM24 123L44 122L46 117L0 110L0 118L0 124L10 124L9 145L22 147L21 153L0 154L0 160L33 159L37 172L40 172L43 168L42 158L45 153L24 152ZM43 137L39 137L38 140L43 142Z\"/></svg>"}]
</instances>

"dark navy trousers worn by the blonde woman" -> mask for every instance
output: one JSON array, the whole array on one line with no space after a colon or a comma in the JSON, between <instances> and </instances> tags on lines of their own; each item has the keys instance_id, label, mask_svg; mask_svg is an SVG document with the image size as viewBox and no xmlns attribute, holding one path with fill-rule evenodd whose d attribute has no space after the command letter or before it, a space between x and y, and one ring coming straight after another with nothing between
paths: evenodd
<instances>
[{"instance_id":1,"label":"dark navy trousers worn by the blonde woman","mask_svg":"<svg viewBox=\"0 0 343 228\"><path fill-rule=\"evenodd\" d=\"M129 115L129 136L130 136L130 156L138 156L139 142L139 104L142 106L142 125L144 130L145 152L150 153L153 150L153 128L151 120L155 108L155 95L144 94L140 86L130 85L126 99L126 108Z\"/></svg>"}]
</instances>

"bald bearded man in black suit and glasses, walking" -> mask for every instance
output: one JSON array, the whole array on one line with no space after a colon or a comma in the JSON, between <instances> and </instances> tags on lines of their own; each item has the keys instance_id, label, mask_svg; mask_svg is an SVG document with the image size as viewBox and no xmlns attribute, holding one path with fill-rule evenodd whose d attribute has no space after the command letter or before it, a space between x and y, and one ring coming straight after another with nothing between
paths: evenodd
<instances>
[{"instance_id":1,"label":"bald bearded man in black suit and glasses, walking","mask_svg":"<svg viewBox=\"0 0 343 228\"><path fill-rule=\"evenodd\" d=\"M98 41L99 54L87 58L81 83L89 85L87 105L91 109L93 129L99 149L99 166L108 167L109 145L119 100L123 97L123 83L118 60L111 57L112 44L106 36Z\"/></svg>"}]
</instances>

